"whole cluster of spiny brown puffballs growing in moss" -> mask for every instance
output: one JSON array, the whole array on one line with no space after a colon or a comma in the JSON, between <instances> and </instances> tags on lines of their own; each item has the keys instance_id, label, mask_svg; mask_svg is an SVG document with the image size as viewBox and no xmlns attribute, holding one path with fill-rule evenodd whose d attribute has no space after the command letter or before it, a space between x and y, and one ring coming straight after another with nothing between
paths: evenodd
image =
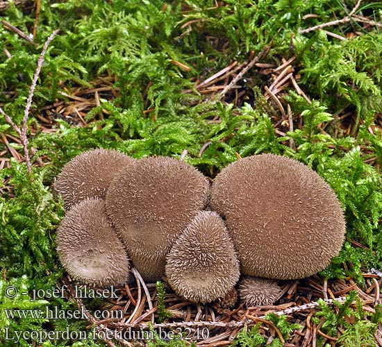
<instances>
[{"instance_id":1,"label":"whole cluster of spiny brown puffballs growing in moss","mask_svg":"<svg viewBox=\"0 0 382 347\"><path fill-rule=\"evenodd\" d=\"M329 185L280 155L242 158L213 180L183 160L106 149L76 156L55 190L67 213L60 262L95 287L165 276L192 303L272 305L278 280L305 278L338 255L345 223ZM237 289L237 291L236 291Z\"/></svg>"}]
</instances>

